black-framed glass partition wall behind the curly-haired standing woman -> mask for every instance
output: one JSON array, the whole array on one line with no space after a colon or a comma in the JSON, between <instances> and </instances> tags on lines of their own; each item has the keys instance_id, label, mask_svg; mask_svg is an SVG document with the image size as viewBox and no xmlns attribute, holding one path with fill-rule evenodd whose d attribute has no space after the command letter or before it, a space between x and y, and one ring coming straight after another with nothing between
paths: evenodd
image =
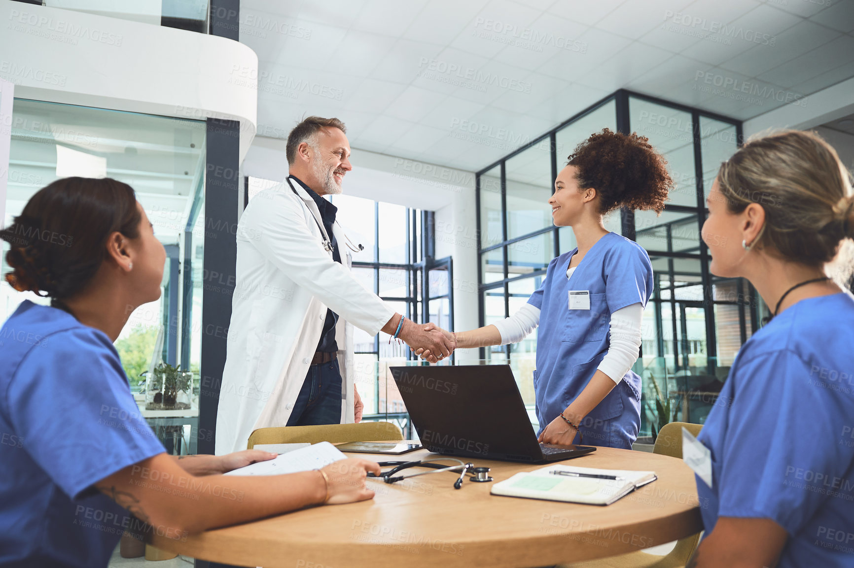
<instances>
[{"instance_id":1,"label":"black-framed glass partition wall behind the curly-haired standing woman","mask_svg":"<svg viewBox=\"0 0 854 568\"><path fill-rule=\"evenodd\" d=\"M675 182L661 215L617 211L605 218L606 229L637 241L652 260L654 292L634 370L644 383L640 435L654 436L671 420L705 421L735 353L766 311L749 282L711 275L699 236L705 196L738 148L739 121L618 90L477 172L480 324L512 315L540 287L549 261L575 248L572 229L553 226L547 200L576 145L603 128L648 137ZM533 409L536 331L480 356L509 362ZM658 415L656 399L670 401L669 416Z\"/></svg>"}]
</instances>

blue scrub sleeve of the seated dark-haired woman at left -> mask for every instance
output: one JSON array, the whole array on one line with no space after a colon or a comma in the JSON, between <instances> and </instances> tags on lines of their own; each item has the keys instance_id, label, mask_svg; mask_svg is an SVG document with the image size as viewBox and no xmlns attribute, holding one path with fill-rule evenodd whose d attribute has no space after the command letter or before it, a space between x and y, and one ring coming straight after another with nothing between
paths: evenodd
<instances>
[{"instance_id":1,"label":"blue scrub sleeve of the seated dark-haired woman at left","mask_svg":"<svg viewBox=\"0 0 854 568\"><path fill-rule=\"evenodd\" d=\"M26 451L72 499L166 451L139 414L112 343L92 328L56 333L33 348L7 400Z\"/></svg>"}]
</instances>

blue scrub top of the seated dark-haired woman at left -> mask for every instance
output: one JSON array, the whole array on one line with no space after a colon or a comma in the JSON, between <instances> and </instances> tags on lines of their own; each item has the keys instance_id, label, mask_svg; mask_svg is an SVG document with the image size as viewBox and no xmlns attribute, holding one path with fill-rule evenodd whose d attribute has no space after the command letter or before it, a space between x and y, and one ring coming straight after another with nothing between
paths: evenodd
<instances>
[{"instance_id":1,"label":"blue scrub top of the seated dark-haired woman at left","mask_svg":"<svg viewBox=\"0 0 854 568\"><path fill-rule=\"evenodd\" d=\"M25 301L0 327L0 566L108 565L142 523L92 484L165 451L105 333Z\"/></svg>"}]
</instances>

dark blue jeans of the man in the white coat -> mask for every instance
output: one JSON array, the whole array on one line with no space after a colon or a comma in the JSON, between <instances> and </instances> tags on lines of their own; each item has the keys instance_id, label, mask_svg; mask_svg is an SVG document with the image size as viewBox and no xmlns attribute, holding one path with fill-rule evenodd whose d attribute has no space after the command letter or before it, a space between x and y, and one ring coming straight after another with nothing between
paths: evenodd
<instances>
[{"instance_id":1,"label":"dark blue jeans of the man in the white coat","mask_svg":"<svg viewBox=\"0 0 854 568\"><path fill-rule=\"evenodd\" d=\"M338 357L308 368L288 426L341 424L341 370Z\"/></svg>"}]
</instances>

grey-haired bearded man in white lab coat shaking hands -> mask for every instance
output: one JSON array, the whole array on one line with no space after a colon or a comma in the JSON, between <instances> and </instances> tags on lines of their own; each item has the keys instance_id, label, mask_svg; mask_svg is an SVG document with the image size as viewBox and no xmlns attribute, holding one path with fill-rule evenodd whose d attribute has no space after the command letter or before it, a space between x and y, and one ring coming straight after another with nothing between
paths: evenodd
<instances>
[{"instance_id":1,"label":"grey-haired bearded man in white lab coat shaking hands","mask_svg":"<svg viewBox=\"0 0 854 568\"><path fill-rule=\"evenodd\" d=\"M323 198L340 194L352 169L342 122L308 117L290 132L286 154L289 177L255 195L237 226L217 455L245 449L256 428L361 420L350 324L430 349L433 362L454 347L440 330L395 313L350 273L336 207Z\"/></svg>"}]
</instances>

